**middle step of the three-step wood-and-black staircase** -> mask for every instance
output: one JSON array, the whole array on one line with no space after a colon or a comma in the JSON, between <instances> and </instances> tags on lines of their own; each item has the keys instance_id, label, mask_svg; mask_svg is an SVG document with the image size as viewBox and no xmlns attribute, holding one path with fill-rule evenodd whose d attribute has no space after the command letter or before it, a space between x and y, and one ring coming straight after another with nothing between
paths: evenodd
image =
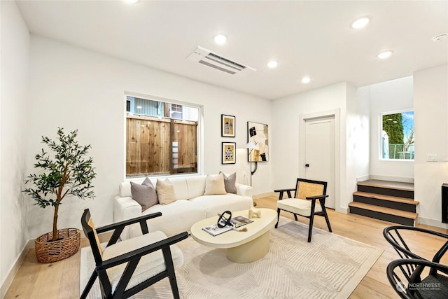
<instances>
[{"instance_id":1,"label":"middle step of the three-step wood-and-black staircase","mask_svg":"<svg viewBox=\"0 0 448 299\"><path fill-rule=\"evenodd\" d=\"M419 204L419 202L409 198L360 191L353 193L353 201L390 209L399 209L401 211L411 211L413 213L416 212L416 206Z\"/></svg>"}]
</instances>

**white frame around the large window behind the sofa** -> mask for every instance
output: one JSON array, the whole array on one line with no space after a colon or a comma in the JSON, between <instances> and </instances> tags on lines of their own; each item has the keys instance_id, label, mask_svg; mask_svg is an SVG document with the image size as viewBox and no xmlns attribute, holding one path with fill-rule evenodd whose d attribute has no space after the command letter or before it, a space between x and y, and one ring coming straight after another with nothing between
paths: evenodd
<instances>
[{"instance_id":1,"label":"white frame around the large window behind the sofa","mask_svg":"<svg viewBox=\"0 0 448 299\"><path fill-rule=\"evenodd\" d=\"M139 98L139 99L145 99L148 101L155 101L155 102L162 102L164 104L175 104L175 105L181 105L181 106L188 106L188 107L192 107L192 108L197 108L198 111L198 116L197 116L197 128L196 128L196 172L186 172L186 173L177 173L177 174L127 174L127 130L126 130L126 126L127 126L127 116L131 115L132 118L141 118L141 119L145 119L145 118L160 118L160 116L146 116L144 114L139 114L139 113L132 113L127 111L127 97L134 97L134 98ZM203 134L204 134L204 130L202 129L202 124L203 124L203 106L200 104L195 104L195 103L191 103L191 102L183 102L183 101L179 101L179 100L175 100L175 99L167 99L164 97L157 97L157 96L151 96L151 95L142 95L142 94L137 94L134 92L125 92L124 95L124 99L125 99L125 109L124 109L124 118L123 118L123 124L124 124L124 141L123 141L123 146L124 146L124 157L123 157L123 164L124 164L124 176L125 176L125 180L127 181L132 181L133 179L141 179L144 178L146 176L152 178L152 179L157 179L157 178L163 178L163 177L170 177L170 176L195 176L195 175L200 175L202 174L202 168L203 168L203 155L204 155L204 151L202 150L203 148ZM132 105L134 104L134 101L132 101ZM132 111L132 109L131 109ZM170 119L170 120L174 120L176 123L177 122L182 122L183 120L179 120L179 118L171 118L171 117L164 117L161 116L162 118L165 119ZM185 120L186 123L192 123L192 121L190 120ZM172 141L170 141L172 142ZM173 157L171 157L172 159Z\"/></svg>"}]
</instances>

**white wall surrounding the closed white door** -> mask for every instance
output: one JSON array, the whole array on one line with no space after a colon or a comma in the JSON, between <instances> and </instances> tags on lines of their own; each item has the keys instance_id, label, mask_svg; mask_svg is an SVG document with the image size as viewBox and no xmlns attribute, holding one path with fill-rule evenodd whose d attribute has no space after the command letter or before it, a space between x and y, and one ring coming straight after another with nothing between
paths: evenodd
<instances>
[{"instance_id":1,"label":"white wall surrounding the closed white door","mask_svg":"<svg viewBox=\"0 0 448 299\"><path fill-rule=\"evenodd\" d=\"M346 90L347 83L336 83L333 85L291 95L272 102L272 190L278 188L293 188L297 177L300 176L300 153L299 151L299 118L301 115L320 113L339 109L340 113L340 152L336 157L335 165L339 164L339 185L346 186ZM335 126L338 124L335 123ZM345 188L336 190L336 202L339 197L337 211L343 211L349 197L346 196ZM342 210L341 210L342 207Z\"/></svg>"}]
</instances>

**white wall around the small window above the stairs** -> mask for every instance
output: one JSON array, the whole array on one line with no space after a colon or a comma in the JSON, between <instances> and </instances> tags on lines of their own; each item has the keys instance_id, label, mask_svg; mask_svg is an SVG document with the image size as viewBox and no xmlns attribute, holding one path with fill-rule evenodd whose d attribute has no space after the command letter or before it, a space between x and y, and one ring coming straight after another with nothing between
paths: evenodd
<instances>
[{"instance_id":1,"label":"white wall around the small window above the stairs","mask_svg":"<svg viewBox=\"0 0 448 299\"><path fill-rule=\"evenodd\" d=\"M370 85L370 175L391 181L414 178L414 162L379 160L379 113L413 109L412 76ZM414 124L415 125L415 124ZM415 134L416 143L420 142Z\"/></svg>"}]
</instances>

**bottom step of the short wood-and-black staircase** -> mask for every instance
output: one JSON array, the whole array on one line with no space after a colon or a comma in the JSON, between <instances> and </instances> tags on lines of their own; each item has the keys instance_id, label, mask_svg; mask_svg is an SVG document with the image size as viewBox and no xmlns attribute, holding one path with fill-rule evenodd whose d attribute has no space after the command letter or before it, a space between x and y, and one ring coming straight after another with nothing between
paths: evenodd
<instances>
[{"instance_id":1,"label":"bottom step of the short wood-and-black staircase","mask_svg":"<svg viewBox=\"0 0 448 299\"><path fill-rule=\"evenodd\" d=\"M373 204L365 204L363 202L350 202L349 209L351 214L358 214L370 218L411 226L416 225L416 219L419 216L419 214L410 211L400 211L398 209L379 207Z\"/></svg>"}]
</instances>

